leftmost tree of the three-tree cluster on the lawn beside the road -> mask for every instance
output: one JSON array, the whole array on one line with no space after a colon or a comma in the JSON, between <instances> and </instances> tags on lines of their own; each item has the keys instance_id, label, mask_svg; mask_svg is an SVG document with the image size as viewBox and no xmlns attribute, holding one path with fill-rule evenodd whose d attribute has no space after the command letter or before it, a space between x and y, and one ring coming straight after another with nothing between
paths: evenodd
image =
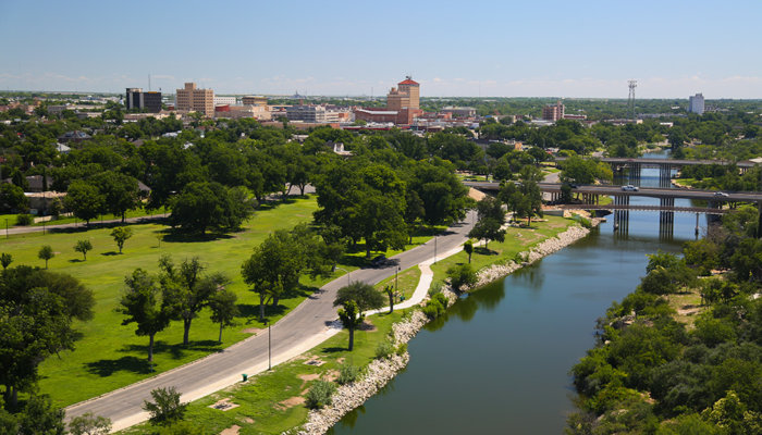
<instances>
[{"instance_id":1,"label":"leftmost tree of the three-tree cluster on the lawn beside the road","mask_svg":"<svg viewBox=\"0 0 762 435\"><path fill-rule=\"evenodd\" d=\"M153 277L143 269L136 269L124 278L125 291L120 300L118 312L127 318L123 325L137 324L135 334L148 336L148 362L153 362L153 336L169 326L172 311Z\"/></svg>"}]
</instances>

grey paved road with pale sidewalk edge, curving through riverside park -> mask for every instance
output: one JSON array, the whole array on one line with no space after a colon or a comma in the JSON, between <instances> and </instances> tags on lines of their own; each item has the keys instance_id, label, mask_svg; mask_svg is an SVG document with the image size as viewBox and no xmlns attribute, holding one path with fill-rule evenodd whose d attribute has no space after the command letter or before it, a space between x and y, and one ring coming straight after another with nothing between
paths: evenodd
<instances>
[{"instance_id":1,"label":"grey paved road with pale sidewalk edge, curving through riverside park","mask_svg":"<svg viewBox=\"0 0 762 435\"><path fill-rule=\"evenodd\" d=\"M437 237L435 240L393 257L392 260L396 264L383 269L354 271L349 274L349 279L376 284L393 275L397 266L405 270L431 259L434 250L441 256L454 249L466 240L466 234L476 219L475 214L471 212L466 223L453 225L446 234ZM327 337L328 325L336 319L336 309L333 307L336 290L346 284L346 276L328 283L272 326L274 362L308 350ZM268 334L263 333L197 362L102 397L73 405L66 409L66 417L73 418L93 412L111 419L115 430L125 427L146 419L140 406L144 399L150 398L150 390L155 388L174 386L183 394L183 400L193 400L233 384L241 380L242 373L253 374L262 371L267 369L267 363Z\"/></svg>"}]
</instances>

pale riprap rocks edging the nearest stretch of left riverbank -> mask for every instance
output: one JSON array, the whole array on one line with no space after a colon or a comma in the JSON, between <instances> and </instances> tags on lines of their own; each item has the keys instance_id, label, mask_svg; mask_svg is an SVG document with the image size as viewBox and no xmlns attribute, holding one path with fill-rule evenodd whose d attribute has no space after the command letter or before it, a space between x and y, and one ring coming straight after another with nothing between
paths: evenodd
<instances>
[{"instance_id":1,"label":"pale riprap rocks edging the nearest stretch of left riverbank","mask_svg":"<svg viewBox=\"0 0 762 435\"><path fill-rule=\"evenodd\" d=\"M409 318L392 325L395 346L409 341L427 322L429 322L429 319L426 314L416 310ZM339 387L333 395L333 402L330 406L309 411L307 423L302 426L298 434L324 434L344 414L365 403L367 399L378 393L398 371L407 365L409 360L410 355L407 352L373 360L366 369L365 376L361 380Z\"/></svg>"}]
</instances>

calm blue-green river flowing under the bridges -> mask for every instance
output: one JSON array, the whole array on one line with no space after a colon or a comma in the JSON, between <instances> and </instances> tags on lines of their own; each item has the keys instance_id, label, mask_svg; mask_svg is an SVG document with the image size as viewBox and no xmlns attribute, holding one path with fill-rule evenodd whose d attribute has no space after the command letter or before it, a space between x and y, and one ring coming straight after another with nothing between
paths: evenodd
<instances>
[{"instance_id":1,"label":"calm blue-green river flowing under the bridges","mask_svg":"<svg viewBox=\"0 0 762 435\"><path fill-rule=\"evenodd\" d=\"M643 170L640 184L657 185L657 174ZM406 370L330 433L563 433L574 410L568 371L593 346L595 320L632 291L647 253L677 252L695 239L693 214L675 213L673 237L660 239L657 212L630 212L626 235L609 220L585 239L462 298L409 343Z\"/></svg>"}]
</instances>

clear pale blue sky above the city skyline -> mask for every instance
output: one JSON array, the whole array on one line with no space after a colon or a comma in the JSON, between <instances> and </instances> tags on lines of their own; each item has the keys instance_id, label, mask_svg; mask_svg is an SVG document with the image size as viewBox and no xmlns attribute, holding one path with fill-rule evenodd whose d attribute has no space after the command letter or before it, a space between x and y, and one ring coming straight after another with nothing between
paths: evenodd
<instances>
[{"instance_id":1,"label":"clear pale blue sky above the city skyline","mask_svg":"<svg viewBox=\"0 0 762 435\"><path fill-rule=\"evenodd\" d=\"M0 89L762 98L762 1L0 0Z\"/></svg>"}]
</instances>

